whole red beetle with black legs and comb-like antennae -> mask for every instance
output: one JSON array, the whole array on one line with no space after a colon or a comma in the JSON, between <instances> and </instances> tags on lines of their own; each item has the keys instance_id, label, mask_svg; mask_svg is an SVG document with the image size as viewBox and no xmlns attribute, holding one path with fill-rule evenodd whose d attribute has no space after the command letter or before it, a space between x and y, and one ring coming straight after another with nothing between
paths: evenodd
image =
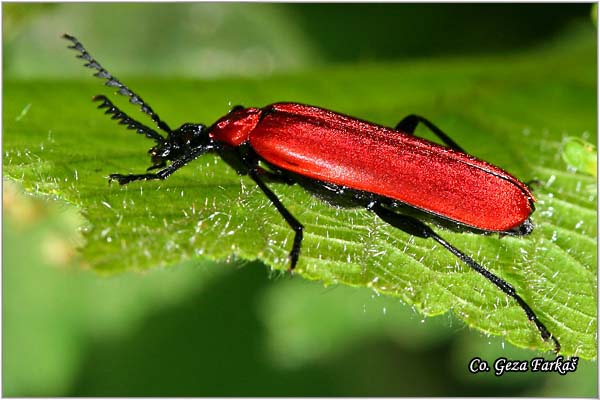
<instances>
[{"instance_id":1,"label":"whole red beetle with black legs and comb-like antennae","mask_svg":"<svg viewBox=\"0 0 600 400\"><path fill-rule=\"evenodd\" d=\"M240 175L248 175L294 230L290 270L300 255L304 226L285 208L266 182L298 183L316 193L330 193L353 206L365 207L388 224L420 238L431 238L506 295L525 311L545 341L560 351L558 340L509 283L494 275L450 243L422 218L483 234L527 235L535 198L528 187L506 171L467 154L438 127L418 115L409 115L386 128L347 115L297 103L275 103L263 108L233 107L211 126L185 123L171 129L140 96L113 77L73 36L64 34L117 93L140 106L158 128L134 120L103 95L98 108L128 129L144 134L156 145L149 154L156 173L110 175L110 181L166 179L207 152L216 152ZM414 136L421 123L446 144ZM169 164L167 165L167 162ZM406 212L408 210L408 212ZM408 215L410 214L410 215Z\"/></svg>"}]
</instances>

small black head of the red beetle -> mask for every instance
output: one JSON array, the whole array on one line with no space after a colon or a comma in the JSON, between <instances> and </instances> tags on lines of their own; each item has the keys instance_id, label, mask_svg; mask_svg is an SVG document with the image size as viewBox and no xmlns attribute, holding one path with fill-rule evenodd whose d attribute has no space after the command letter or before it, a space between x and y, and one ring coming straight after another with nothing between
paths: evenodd
<instances>
[{"instance_id":1,"label":"small black head of the red beetle","mask_svg":"<svg viewBox=\"0 0 600 400\"><path fill-rule=\"evenodd\" d=\"M208 136L205 125L183 124L148 151L153 164L148 170L162 168L167 161L175 161L192 153L200 155L213 147L213 141Z\"/></svg>"}]
</instances>

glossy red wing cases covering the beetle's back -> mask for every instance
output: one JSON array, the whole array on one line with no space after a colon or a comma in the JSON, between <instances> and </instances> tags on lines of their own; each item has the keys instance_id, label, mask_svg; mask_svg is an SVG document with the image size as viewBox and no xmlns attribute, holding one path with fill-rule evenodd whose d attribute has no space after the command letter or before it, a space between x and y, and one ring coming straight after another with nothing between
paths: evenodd
<instances>
[{"instance_id":1,"label":"glossy red wing cases covering the beetle's back","mask_svg":"<svg viewBox=\"0 0 600 400\"><path fill-rule=\"evenodd\" d=\"M533 212L527 186L468 154L318 107L280 103L263 113L250 145L283 170L486 231L519 227Z\"/></svg>"}]
</instances>

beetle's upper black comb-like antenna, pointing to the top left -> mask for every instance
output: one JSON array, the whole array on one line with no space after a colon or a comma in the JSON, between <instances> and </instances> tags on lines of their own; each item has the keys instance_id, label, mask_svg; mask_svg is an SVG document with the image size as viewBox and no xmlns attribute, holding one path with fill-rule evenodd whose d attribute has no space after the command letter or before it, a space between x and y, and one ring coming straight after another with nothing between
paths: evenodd
<instances>
[{"instance_id":1,"label":"beetle's upper black comb-like antenna, pointing to the top left","mask_svg":"<svg viewBox=\"0 0 600 400\"><path fill-rule=\"evenodd\" d=\"M107 70L105 70L98 63L98 61L94 60L90 53L88 53L85 47L83 47L83 45L79 42L79 40L77 40L74 36L68 35L66 33L63 34L62 37L73 43L73 45L69 46L69 48L79 52L77 57L87 61L87 63L85 64L86 67L98 71L94 74L94 76L97 76L100 79L106 79L106 86L118 88L117 93L119 93L122 96L129 97L130 103L139 105L142 112L148 114L161 130L165 131L166 133L172 132L171 128L169 128L169 125L162 121L158 114L156 114L152 110L152 108L148 104L146 104L144 100L142 100L140 96L132 92L127 86L123 85L117 78L113 77Z\"/></svg>"}]
</instances>

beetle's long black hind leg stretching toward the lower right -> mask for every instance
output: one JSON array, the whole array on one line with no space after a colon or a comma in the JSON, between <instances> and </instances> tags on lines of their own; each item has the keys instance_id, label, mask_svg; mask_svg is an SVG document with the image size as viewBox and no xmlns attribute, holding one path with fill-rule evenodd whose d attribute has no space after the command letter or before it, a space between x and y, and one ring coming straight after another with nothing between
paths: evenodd
<instances>
[{"instance_id":1,"label":"beetle's long black hind leg stretching toward the lower right","mask_svg":"<svg viewBox=\"0 0 600 400\"><path fill-rule=\"evenodd\" d=\"M377 216L379 216L382 220L387 222L388 224L414 236L418 236L421 238L431 238L441 244L446 250L454 254L457 258L459 258L462 262L467 264L476 272L483 275L488 281L492 282L496 287L498 287L502 292L506 295L512 297L523 311L525 311L525 315L527 315L527 319L532 321L540 332L542 338L546 341L552 341L554 345L554 352L558 353L560 351L560 343L558 340L550 333L548 328L539 320L535 312L529 307L529 305L517 294L512 285L508 282L504 281L499 276L493 274L488 271L477 262L475 262L471 257L464 254L462 251L458 250L456 247L452 246L450 243L446 242L442 237L440 237L437 233L435 233L430 227L425 225L423 222L418 219L409 217L407 215L398 214L392 210L384 208L378 202L372 202L367 205L367 209L373 211Z\"/></svg>"}]
</instances>

